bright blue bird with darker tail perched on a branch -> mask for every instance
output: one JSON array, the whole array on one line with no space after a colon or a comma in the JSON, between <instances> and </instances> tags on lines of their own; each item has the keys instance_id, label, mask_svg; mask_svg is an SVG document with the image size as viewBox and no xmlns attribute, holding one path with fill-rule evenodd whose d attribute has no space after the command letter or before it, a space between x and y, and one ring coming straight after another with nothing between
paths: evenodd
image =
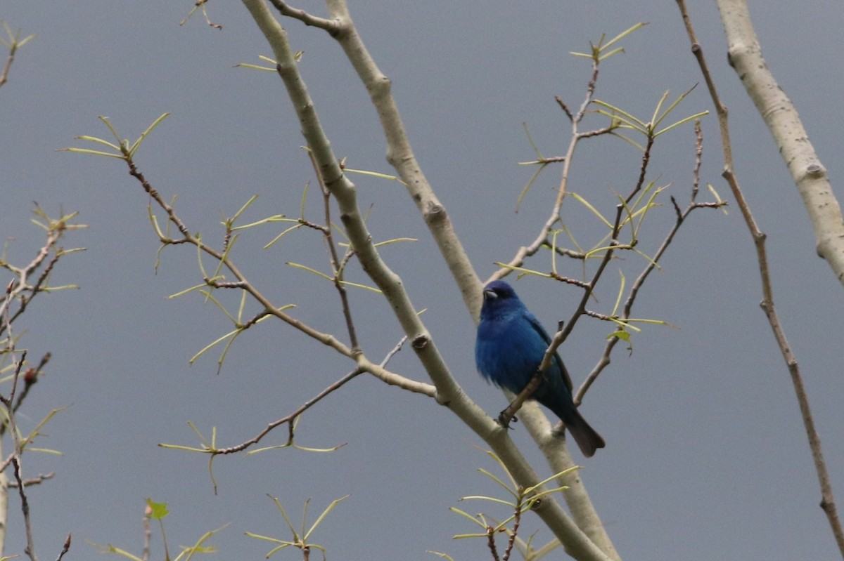
<instances>
[{"instance_id":1,"label":"bright blue bird with darker tail perched on a branch","mask_svg":"<svg viewBox=\"0 0 844 561\"><path fill-rule=\"evenodd\" d=\"M533 378L549 345L551 338L510 285L493 280L484 288L475 340L475 364L482 377L495 386L520 393ZM592 457L596 449L605 446L601 435L575 407L571 378L560 355L554 355L531 399L562 419L584 456Z\"/></svg>"}]
</instances>

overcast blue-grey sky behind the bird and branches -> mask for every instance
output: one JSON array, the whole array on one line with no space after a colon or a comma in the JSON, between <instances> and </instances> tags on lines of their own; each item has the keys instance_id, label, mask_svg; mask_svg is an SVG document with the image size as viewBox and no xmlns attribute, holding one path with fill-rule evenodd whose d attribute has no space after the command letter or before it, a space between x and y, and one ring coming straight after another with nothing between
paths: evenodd
<instances>
[{"instance_id":1,"label":"overcast blue-grey sky behind the bird and branches","mask_svg":"<svg viewBox=\"0 0 844 561\"><path fill-rule=\"evenodd\" d=\"M533 159L522 130L527 123L545 155L565 151L568 121L554 102L582 99L587 62L570 56L602 33L613 36L639 21L650 24L609 59L598 99L645 120L663 91L684 92L701 76L673 2L351 3L371 54L393 81L411 142L425 174L452 216L482 278L533 240L555 197L560 168L549 168L513 212L533 174L518 166ZM692 18L730 108L738 179L768 234L774 288L782 322L803 369L830 476L844 500L844 408L841 407L841 285L814 251L809 220L787 169L760 116L728 67L726 42L714 3L692 3ZM320 3L301 4L322 15ZM57 148L83 146L78 135L106 137L97 115L108 115L123 137L136 138L165 111L172 113L138 152L139 168L170 199L194 232L219 243L221 215L230 216L252 195L247 220L296 216L313 172L300 150L298 122L278 77L233 67L259 62L271 51L241 3L212 2L211 29L197 14L178 24L192 2L33 3L6 0L0 19L24 35L36 34L0 88L0 233L14 238L13 263L29 262L41 247L30 224L32 201L52 215L80 211L89 225L65 247L84 254L62 259L53 284L80 286L38 297L16 326L30 357L52 352L46 377L25 404L31 427L50 409L68 406L39 442L63 457L30 454L29 475L56 478L30 490L37 553L55 558L68 532L66 559L95 556L84 540L141 553L143 500L167 502L171 548L230 524L211 542L219 558L262 558L270 549L243 535L286 539L284 522L266 494L278 496L294 520L311 497L311 520L332 500L338 505L313 539L329 559L427 559L426 550L459 560L488 558L484 542L453 541L473 532L448 507L466 494L495 494L476 470L493 469L472 445L479 440L446 409L367 377L327 398L300 424L303 446L347 443L333 454L295 450L219 457L208 479L207 458L165 451L159 442L197 445L187 427L218 444L246 440L288 414L352 368L332 350L268 320L244 334L217 374L214 351L188 366L210 341L230 330L219 310L196 295L169 300L197 284L196 251L168 248L155 275L158 248L147 219L147 197L117 160ZM841 177L841 3L820 0L754 3L751 13L766 61L797 105L834 185ZM349 167L392 173L374 110L333 40L318 29L284 22L333 148ZM676 115L711 110L698 87ZM589 121L601 126L603 120ZM704 120L703 182L728 188L713 115ZM89 146L93 147L93 146ZM648 179L673 184L688 200L694 154L691 127L657 142ZM570 190L610 212L614 191L635 182L640 155L624 142L584 142L576 153ZM376 240L419 238L384 248L402 276L454 375L490 414L506 404L475 373L474 328L441 257L400 185L356 176L360 205L374 205ZM316 192L314 192L314 195ZM838 193L841 197L841 193ZM701 192L701 199L708 194ZM665 200L668 202L668 200ZM732 202L732 201L731 201ZM309 213L318 218L319 200ZM654 213L641 249L652 253L673 220L670 206ZM566 224L582 243L603 235L574 200ZM248 232L235 259L274 302L296 303L295 316L344 337L338 302L327 282L286 261L327 270L322 242L296 232L262 250L281 226ZM611 264L599 291L609 312L619 268L631 280L644 262L633 256ZM548 270L547 254L530 266ZM577 275L579 265L562 262ZM353 280L363 280L356 266ZM3 280L3 283L8 280ZM552 328L567 319L580 291L527 278L517 291ZM398 323L380 297L352 292L361 344L379 359L400 338ZM650 327L634 339L630 357L619 345L611 366L587 394L582 412L607 441L583 460L583 477L625 559L832 559L837 557L809 447L787 370L760 311L753 245L740 213L695 211L641 292L634 315L660 318L679 329ZM254 311L255 307L251 307ZM576 383L598 360L606 324L583 319L561 348ZM390 367L426 380L410 350ZM264 445L284 441L286 431ZM517 425L540 473L541 454ZM8 443L5 451L8 453ZM22 553L18 500L12 500L6 553ZM504 516L503 512L497 513ZM528 532L541 527L528 516ZM163 558L154 537L154 558ZM538 540L548 538L540 532ZM171 549L172 551L172 549ZM300 558L284 551L279 558ZM549 558L562 558L561 552Z\"/></svg>"}]
</instances>

